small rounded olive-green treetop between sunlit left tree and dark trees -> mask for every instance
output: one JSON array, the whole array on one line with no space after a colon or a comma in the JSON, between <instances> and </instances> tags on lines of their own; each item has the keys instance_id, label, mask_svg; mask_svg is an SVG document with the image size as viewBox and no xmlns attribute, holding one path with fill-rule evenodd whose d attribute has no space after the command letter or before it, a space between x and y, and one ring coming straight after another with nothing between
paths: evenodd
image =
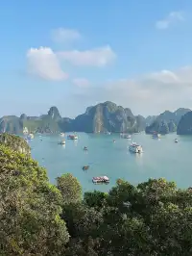
<instances>
[{"instance_id":1,"label":"small rounded olive-green treetop between sunlit left tree and dark trees","mask_svg":"<svg viewBox=\"0 0 192 256\"><path fill-rule=\"evenodd\" d=\"M57 178L57 186L61 192L63 203L78 202L82 198L82 187L77 178L70 173L63 174Z\"/></svg>"}]
</instances>

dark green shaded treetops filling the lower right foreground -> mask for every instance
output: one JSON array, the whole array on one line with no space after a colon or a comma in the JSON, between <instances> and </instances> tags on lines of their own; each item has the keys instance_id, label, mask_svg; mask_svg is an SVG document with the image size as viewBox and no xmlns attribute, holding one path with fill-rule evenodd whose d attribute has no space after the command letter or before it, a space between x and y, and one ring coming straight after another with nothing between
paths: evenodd
<instances>
[{"instance_id":1,"label":"dark green shaded treetops filling the lower right foreground","mask_svg":"<svg viewBox=\"0 0 192 256\"><path fill-rule=\"evenodd\" d=\"M164 179L137 187L118 180L104 204L100 196L85 193L85 205L65 208L73 237L67 255L191 255L192 192Z\"/></svg>"}]
</instances>

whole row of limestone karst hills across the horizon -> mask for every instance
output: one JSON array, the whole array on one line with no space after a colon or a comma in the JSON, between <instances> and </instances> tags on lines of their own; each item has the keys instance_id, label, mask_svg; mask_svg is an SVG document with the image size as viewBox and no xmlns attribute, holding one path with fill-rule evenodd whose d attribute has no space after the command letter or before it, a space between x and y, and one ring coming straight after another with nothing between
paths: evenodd
<instances>
[{"instance_id":1,"label":"whole row of limestone karst hills across the horizon","mask_svg":"<svg viewBox=\"0 0 192 256\"><path fill-rule=\"evenodd\" d=\"M72 119L61 117L57 107L51 107L47 115L28 116L22 114L20 117L7 115L0 118L0 133L9 132L20 134L25 127L34 133L59 133L59 132L86 132L86 133L138 133L146 131L148 134L158 132L167 134L175 132L180 126L180 119L188 113L189 109L178 109L172 113L165 111L160 115L133 115L131 109L117 106L107 101L88 107L83 115ZM192 125L192 114L191 118ZM187 115L187 120L188 120ZM188 123L188 122L187 122ZM182 133L183 128L179 130ZM188 131L188 130L187 130ZM189 132L188 132L189 133ZM191 130L192 134L192 130Z\"/></svg>"}]
</instances>

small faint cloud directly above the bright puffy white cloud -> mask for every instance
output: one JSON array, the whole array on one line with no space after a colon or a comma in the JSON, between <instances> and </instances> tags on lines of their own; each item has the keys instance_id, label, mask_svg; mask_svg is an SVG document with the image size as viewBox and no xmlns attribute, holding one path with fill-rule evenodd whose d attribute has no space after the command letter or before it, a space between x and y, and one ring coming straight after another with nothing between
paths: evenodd
<instances>
[{"instance_id":1,"label":"small faint cloud directly above the bright puffy white cloud","mask_svg":"<svg viewBox=\"0 0 192 256\"><path fill-rule=\"evenodd\" d=\"M59 28L52 31L52 38L56 42L68 42L82 38L77 30Z\"/></svg>"}]
</instances>

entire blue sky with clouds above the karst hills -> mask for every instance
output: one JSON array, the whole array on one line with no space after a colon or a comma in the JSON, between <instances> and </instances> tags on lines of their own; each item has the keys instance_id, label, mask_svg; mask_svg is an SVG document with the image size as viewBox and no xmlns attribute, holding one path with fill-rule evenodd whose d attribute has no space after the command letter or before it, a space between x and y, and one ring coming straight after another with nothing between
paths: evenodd
<instances>
[{"instance_id":1,"label":"entire blue sky with clouds above the karst hills","mask_svg":"<svg viewBox=\"0 0 192 256\"><path fill-rule=\"evenodd\" d=\"M0 115L192 109L191 0L2 0Z\"/></svg>"}]
</instances>

